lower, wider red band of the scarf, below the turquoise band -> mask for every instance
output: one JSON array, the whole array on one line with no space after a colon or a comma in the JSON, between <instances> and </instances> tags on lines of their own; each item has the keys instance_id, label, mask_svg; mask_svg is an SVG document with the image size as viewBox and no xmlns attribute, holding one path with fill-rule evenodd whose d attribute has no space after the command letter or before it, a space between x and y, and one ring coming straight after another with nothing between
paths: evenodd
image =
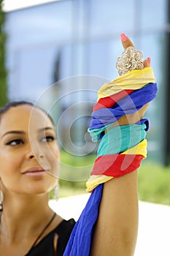
<instances>
[{"instance_id":1,"label":"lower, wider red band of the scarf, below the turquoise band","mask_svg":"<svg viewBox=\"0 0 170 256\"><path fill-rule=\"evenodd\" d=\"M120 177L136 170L144 157L134 154L112 154L98 157L90 175Z\"/></svg>"}]
</instances>

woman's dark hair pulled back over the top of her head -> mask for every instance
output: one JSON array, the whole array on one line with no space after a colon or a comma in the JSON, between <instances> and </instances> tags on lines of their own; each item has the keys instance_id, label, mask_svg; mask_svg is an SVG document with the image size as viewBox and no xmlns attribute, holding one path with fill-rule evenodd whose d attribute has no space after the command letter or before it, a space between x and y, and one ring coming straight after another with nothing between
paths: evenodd
<instances>
[{"instance_id":1,"label":"woman's dark hair pulled back over the top of her head","mask_svg":"<svg viewBox=\"0 0 170 256\"><path fill-rule=\"evenodd\" d=\"M16 102L9 102L7 105L4 105L4 107L0 108L0 121L1 121L1 116L4 113L6 113L10 108L15 108L20 105L30 105L32 107L38 108L39 110L42 110L42 112L44 112L50 118L50 121L52 121L53 125L55 125L53 118L44 109L40 108L39 106L34 105L34 103L32 103L32 102L27 102L24 100L20 100L20 101L16 101Z\"/></svg>"}]
</instances>

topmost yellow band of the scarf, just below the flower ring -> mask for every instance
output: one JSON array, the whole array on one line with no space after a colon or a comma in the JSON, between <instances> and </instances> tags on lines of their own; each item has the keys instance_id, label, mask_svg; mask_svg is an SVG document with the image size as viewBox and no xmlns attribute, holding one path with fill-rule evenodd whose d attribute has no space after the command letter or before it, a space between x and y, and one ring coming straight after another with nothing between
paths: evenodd
<instances>
[{"instance_id":1,"label":"topmost yellow band of the scarf, just below the flower ring","mask_svg":"<svg viewBox=\"0 0 170 256\"><path fill-rule=\"evenodd\" d=\"M137 90L146 86L148 83L155 83L155 76L152 67L144 67L141 70L132 70L125 75L112 80L110 83L104 83L98 90L98 100L108 97L122 90Z\"/></svg>"}]
</instances>

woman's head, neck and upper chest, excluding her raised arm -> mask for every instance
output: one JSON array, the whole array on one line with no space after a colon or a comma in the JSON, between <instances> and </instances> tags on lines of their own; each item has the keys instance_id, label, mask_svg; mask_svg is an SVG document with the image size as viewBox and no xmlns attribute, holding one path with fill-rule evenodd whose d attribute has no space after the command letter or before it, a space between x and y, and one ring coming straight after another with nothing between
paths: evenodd
<instances>
[{"instance_id":1,"label":"woman's head, neck and upper chest, excluding her raised arm","mask_svg":"<svg viewBox=\"0 0 170 256\"><path fill-rule=\"evenodd\" d=\"M34 108L34 124L30 123L33 108L20 102L1 111L1 255L50 255L56 251L60 229L66 228L58 244L57 255L62 255L74 226L73 219L64 222L48 206L48 193L58 181L46 170L58 171L59 152L47 114ZM51 231L52 239L32 254L31 248Z\"/></svg>"}]
</instances>

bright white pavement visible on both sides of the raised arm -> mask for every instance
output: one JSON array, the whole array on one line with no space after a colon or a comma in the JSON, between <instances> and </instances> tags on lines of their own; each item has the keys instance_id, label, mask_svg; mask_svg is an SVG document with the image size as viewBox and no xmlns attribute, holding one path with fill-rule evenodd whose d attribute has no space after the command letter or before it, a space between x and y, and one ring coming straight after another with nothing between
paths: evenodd
<instances>
[{"instance_id":1,"label":"bright white pavement visible on both sides of the raised arm","mask_svg":"<svg viewBox=\"0 0 170 256\"><path fill-rule=\"evenodd\" d=\"M90 194L63 197L49 205L65 219L77 220ZM68 210L69 209L69 210ZM170 256L170 206L139 201L139 233L134 256Z\"/></svg>"}]
</instances>

